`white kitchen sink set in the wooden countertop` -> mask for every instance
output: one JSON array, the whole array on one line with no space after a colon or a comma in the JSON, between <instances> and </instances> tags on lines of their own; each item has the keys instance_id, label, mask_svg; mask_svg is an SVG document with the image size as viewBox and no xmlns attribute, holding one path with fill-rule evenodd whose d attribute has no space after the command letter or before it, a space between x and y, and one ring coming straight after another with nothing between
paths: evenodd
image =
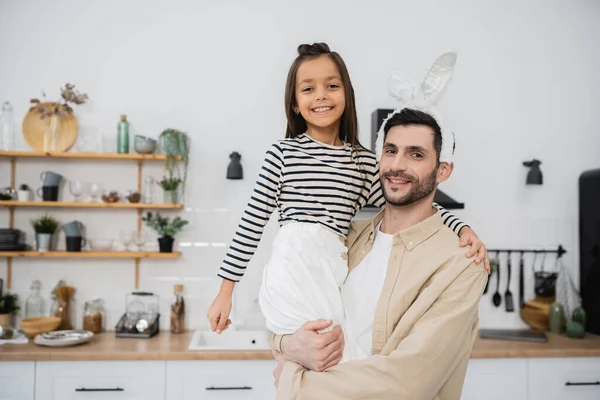
<instances>
[{"instance_id":1,"label":"white kitchen sink set in the wooden countertop","mask_svg":"<svg viewBox=\"0 0 600 400\"><path fill-rule=\"evenodd\" d=\"M267 331L194 331L188 350L270 350Z\"/></svg>"}]
</instances>

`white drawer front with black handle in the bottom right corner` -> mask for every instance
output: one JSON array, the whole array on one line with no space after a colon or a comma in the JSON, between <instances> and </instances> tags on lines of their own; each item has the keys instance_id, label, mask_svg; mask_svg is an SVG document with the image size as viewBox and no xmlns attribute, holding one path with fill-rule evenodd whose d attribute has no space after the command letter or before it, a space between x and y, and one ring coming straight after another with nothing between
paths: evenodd
<instances>
[{"instance_id":1,"label":"white drawer front with black handle in the bottom right corner","mask_svg":"<svg viewBox=\"0 0 600 400\"><path fill-rule=\"evenodd\" d=\"M529 359L529 400L600 399L600 358Z\"/></svg>"}]
</instances>

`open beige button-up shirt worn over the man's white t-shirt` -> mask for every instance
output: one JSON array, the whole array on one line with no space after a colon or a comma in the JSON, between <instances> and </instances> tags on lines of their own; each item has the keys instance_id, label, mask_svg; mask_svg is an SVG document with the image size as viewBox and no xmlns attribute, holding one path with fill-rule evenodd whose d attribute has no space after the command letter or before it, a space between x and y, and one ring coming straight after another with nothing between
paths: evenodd
<instances>
[{"instance_id":1,"label":"open beige button-up shirt worn over the man's white t-shirt","mask_svg":"<svg viewBox=\"0 0 600 400\"><path fill-rule=\"evenodd\" d=\"M350 273L371 251L382 218L383 211L352 223ZM439 212L395 234L373 321L373 356L324 372L287 362L277 399L460 399L487 280L466 252ZM275 349L280 341L272 336Z\"/></svg>"}]
</instances>

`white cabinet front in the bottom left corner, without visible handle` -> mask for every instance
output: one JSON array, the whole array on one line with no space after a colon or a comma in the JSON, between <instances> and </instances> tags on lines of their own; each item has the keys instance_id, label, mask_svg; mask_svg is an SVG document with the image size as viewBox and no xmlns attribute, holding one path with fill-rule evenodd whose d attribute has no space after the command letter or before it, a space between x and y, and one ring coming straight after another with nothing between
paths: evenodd
<instances>
[{"instance_id":1,"label":"white cabinet front in the bottom left corner, without visible handle","mask_svg":"<svg viewBox=\"0 0 600 400\"><path fill-rule=\"evenodd\" d=\"M0 400L33 400L35 362L0 362Z\"/></svg>"}]
</instances>

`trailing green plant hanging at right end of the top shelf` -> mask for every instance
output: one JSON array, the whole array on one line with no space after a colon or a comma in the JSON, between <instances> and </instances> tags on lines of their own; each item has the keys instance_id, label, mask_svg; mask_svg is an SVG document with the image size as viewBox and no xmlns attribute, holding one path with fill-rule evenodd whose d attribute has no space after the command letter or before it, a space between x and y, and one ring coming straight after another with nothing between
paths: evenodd
<instances>
[{"instance_id":1,"label":"trailing green plant hanging at right end of the top shelf","mask_svg":"<svg viewBox=\"0 0 600 400\"><path fill-rule=\"evenodd\" d=\"M158 136L162 152L166 155L165 172L169 177L180 179L181 193L185 195L185 183L190 153L190 138L177 129L165 129Z\"/></svg>"}]
</instances>

